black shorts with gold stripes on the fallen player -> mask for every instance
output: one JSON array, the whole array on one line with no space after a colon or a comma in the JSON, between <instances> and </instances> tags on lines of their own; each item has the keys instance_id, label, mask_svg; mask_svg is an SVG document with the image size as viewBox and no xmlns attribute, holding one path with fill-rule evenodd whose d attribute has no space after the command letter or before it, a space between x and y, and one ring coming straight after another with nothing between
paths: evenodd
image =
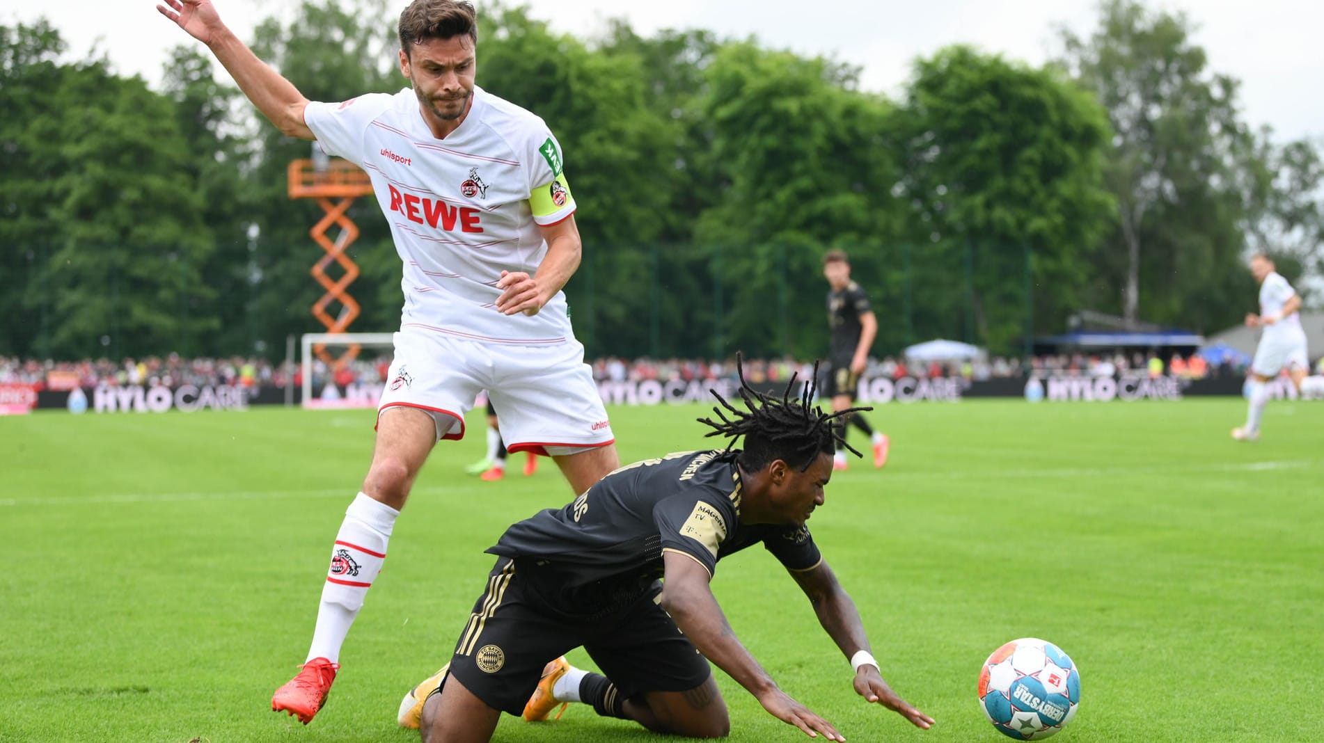
<instances>
[{"instance_id":1,"label":"black shorts with gold stripes on the fallen player","mask_svg":"<svg viewBox=\"0 0 1324 743\"><path fill-rule=\"evenodd\" d=\"M579 616L549 603L557 583L527 561L496 559L450 658L450 674L487 706L523 714L543 666L580 645L625 699L686 691L712 674L657 604L661 582L610 609Z\"/></svg>"}]
</instances>

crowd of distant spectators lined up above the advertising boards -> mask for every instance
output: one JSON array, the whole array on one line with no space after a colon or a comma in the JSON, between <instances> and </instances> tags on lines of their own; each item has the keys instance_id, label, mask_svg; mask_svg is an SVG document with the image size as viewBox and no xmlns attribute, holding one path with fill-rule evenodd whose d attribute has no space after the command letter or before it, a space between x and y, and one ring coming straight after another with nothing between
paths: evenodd
<instances>
[{"instance_id":1,"label":"crowd of distant spectators lined up above the advertising boards","mask_svg":"<svg viewBox=\"0 0 1324 743\"><path fill-rule=\"evenodd\" d=\"M351 362L312 362L312 383L324 385L335 381L340 386L350 383L381 383L391 364L389 356L355 358ZM695 379L735 379L733 358L634 358L604 357L591 362L593 375L600 382L641 382L655 379L662 382ZM806 378L813 373L813 362L794 358L752 358L744 361L745 378L752 382L782 382L798 373ZM993 378L1017 378L1026 374L1037 375L1112 375L1119 373L1143 373L1149 375L1173 374L1188 378L1206 375L1245 374L1245 365L1223 364L1210 366L1200 356L1158 357L1141 353L1113 354L1053 354L1037 356L1029 361L1021 358L980 358L965 361L914 361L896 357L870 358L866 377L964 377L973 381ZM156 386L179 385L238 385L238 386L278 386L289 382L302 383L298 365L286 368L283 362L265 358L180 358L179 354L166 357L109 358L82 361L37 361L32 358L0 357L0 383L25 383L37 389L73 389L111 386Z\"/></svg>"}]
</instances>

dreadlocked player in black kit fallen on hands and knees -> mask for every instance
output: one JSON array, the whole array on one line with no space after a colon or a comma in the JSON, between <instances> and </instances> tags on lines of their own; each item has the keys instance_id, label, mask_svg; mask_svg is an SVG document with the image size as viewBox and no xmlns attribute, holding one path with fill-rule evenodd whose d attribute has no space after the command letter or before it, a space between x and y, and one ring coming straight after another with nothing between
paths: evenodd
<instances>
[{"instance_id":1,"label":"dreadlocked player in black kit fallen on hands and knees","mask_svg":"<svg viewBox=\"0 0 1324 743\"><path fill-rule=\"evenodd\" d=\"M805 526L824 504L846 411L810 407L812 386L796 398L794 383L769 397L741 374L744 410L718 395L718 419L702 419L710 436L728 439L726 450L630 464L565 508L507 529L487 550L499 557L450 662L405 695L400 724L421 723L425 742L485 742L502 711L538 721L584 702L655 732L723 736L731 722L712 661L773 717L843 740L777 686L712 595L718 562L759 543L850 658L855 691L918 727L933 724L883 681L855 604ZM740 436L744 448L732 450ZM563 653L580 645L605 676L565 664Z\"/></svg>"}]
</instances>

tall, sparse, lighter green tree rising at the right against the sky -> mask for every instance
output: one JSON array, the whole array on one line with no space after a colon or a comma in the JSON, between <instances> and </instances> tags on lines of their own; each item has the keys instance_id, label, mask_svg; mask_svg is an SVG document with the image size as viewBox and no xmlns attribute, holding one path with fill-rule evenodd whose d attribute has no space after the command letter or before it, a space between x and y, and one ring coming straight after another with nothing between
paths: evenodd
<instances>
[{"instance_id":1,"label":"tall, sparse, lighter green tree rising at the right against the sky","mask_svg":"<svg viewBox=\"0 0 1324 743\"><path fill-rule=\"evenodd\" d=\"M1095 304L1217 331L1246 309L1226 297L1253 288L1246 223L1263 214L1255 181L1272 155L1254 153L1237 81L1209 70L1190 29L1185 15L1108 0L1092 36L1063 40L1067 67L1116 132L1107 177L1117 218L1090 256Z\"/></svg>"}]
</instances>

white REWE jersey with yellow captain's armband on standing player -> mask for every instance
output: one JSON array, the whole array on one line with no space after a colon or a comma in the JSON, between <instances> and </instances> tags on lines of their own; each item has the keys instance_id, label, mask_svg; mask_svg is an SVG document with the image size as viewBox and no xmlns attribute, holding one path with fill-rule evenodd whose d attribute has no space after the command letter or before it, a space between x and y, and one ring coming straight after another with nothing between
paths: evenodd
<instances>
[{"instance_id":1,"label":"white REWE jersey with yellow captain's armband on standing player","mask_svg":"<svg viewBox=\"0 0 1324 743\"><path fill-rule=\"evenodd\" d=\"M408 87L308 103L303 119L323 151L372 180L404 262L401 329L511 345L573 340L563 292L532 317L495 305L500 272L534 275L547 254L538 226L575 213L560 145L540 118L475 86L445 139Z\"/></svg>"}]
</instances>

